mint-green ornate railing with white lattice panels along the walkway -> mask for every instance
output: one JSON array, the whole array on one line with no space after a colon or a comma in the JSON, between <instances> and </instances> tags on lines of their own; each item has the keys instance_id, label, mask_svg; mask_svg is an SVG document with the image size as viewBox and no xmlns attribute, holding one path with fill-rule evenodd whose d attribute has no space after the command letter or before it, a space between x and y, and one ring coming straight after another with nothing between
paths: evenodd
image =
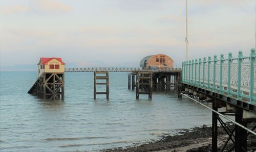
<instances>
[{"instance_id":1,"label":"mint-green ornate railing with white lattice panels along the walkway","mask_svg":"<svg viewBox=\"0 0 256 152\"><path fill-rule=\"evenodd\" d=\"M245 99L256 104L256 53L251 49L249 57L243 57L240 50L238 58L232 53L228 58L221 54L182 62L182 83L212 90L227 96Z\"/></svg>"}]
</instances>

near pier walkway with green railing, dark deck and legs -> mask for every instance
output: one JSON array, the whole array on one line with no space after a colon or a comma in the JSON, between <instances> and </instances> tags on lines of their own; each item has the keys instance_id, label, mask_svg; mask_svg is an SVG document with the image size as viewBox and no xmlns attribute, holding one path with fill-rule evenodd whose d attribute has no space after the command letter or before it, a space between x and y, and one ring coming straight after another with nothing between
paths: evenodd
<instances>
[{"instance_id":1,"label":"near pier walkway with green railing, dark deck and legs","mask_svg":"<svg viewBox=\"0 0 256 152\"><path fill-rule=\"evenodd\" d=\"M256 121L256 53L251 49L249 57L239 51L238 57L231 53L225 58L211 57L185 61L182 63L182 83L179 97L185 95L196 102L212 103L212 151L217 151L219 123L226 130L227 141L221 151L247 151L247 135L256 133L256 126L246 128L247 124ZM218 112L218 109L225 111ZM230 130L222 118L231 114L235 117L234 130ZM231 141L233 147L226 149Z\"/></svg>"}]
</instances>

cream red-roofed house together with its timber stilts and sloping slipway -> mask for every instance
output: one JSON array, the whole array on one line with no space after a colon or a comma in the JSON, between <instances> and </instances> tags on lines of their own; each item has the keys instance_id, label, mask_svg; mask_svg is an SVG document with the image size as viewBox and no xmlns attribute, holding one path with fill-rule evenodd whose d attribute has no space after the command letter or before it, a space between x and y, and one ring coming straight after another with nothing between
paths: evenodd
<instances>
[{"instance_id":1,"label":"cream red-roofed house together with its timber stilts and sloping slipway","mask_svg":"<svg viewBox=\"0 0 256 152\"><path fill-rule=\"evenodd\" d=\"M64 100L65 63L61 58L40 58L38 78L29 94L48 100Z\"/></svg>"}]
</instances>

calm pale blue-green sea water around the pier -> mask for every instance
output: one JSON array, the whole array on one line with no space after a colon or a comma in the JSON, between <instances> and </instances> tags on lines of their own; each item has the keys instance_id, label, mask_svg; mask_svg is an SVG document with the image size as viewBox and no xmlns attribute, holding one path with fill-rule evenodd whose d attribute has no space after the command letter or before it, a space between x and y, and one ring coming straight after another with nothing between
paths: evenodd
<instances>
[{"instance_id":1,"label":"calm pale blue-green sea water around the pier","mask_svg":"<svg viewBox=\"0 0 256 152\"><path fill-rule=\"evenodd\" d=\"M127 73L110 73L110 100L93 100L93 73L65 74L65 101L27 94L37 72L0 73L1 151L75 151L128 146L211 123L211 112L176 94L135 99Z\"/></svg>"}]
</instances>

